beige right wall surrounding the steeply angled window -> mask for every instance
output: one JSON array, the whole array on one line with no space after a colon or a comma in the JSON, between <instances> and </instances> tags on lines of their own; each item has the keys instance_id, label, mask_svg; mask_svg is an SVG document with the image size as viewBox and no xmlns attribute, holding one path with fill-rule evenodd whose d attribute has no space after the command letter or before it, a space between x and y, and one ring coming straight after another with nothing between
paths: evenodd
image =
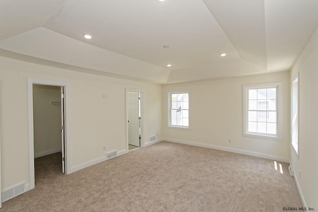
<instances>
[{"instance_id":1,"label":"beige right wall surrounding the steeply angled window","mask_svg":"<svg viewBox=\"0 0 318 212\"><path fill-rule=\"evenodd\" d=\"M318 28L291 71L299 72L299 157L291 164L307 207L318 210ZM301 170L301 175L299 173Z\"/></svg>"}]
</instances>

